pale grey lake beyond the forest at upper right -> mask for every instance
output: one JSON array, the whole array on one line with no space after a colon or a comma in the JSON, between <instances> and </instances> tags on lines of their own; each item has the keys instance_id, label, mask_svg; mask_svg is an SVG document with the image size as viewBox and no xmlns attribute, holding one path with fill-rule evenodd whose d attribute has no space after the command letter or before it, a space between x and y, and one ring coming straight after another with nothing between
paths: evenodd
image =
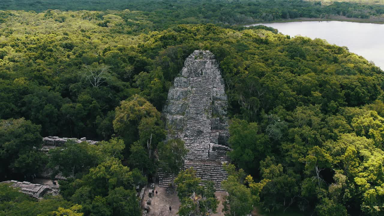
<instances>
[{"instance_id":1,"label":"pale grey lake beyond the forest at upper right","mask_svg":"<svg viewBox=\"0 0 384 216\"><path fill-rule=\"evenodd\" d=\"M327 40L331 44L348 47L350 52L373 61L384 70L384 24L340 21L308 21L285 23L257 23L276 28L279 32ZM247 25L253 26L253 25Z\"/></svg>"}]
</instances>

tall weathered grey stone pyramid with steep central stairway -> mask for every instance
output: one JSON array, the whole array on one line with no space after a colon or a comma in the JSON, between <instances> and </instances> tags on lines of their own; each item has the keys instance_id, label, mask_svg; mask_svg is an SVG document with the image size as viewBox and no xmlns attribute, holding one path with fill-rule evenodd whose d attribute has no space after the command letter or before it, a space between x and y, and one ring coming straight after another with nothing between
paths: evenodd
<instances>
[{"instance_id":1,"label":"tall weathered grey stone pyramid with steep central stairway","mask_svg":"<svg viewBox=\"0 0 384 216\"><path fill-rule=\"evenodd\" d=\"M215 182L221 191L221 181L227 179L222 163L228 162L228 106L224 80L215 56L209 51L194 51L184 62L180 76L170 88L164 115L167 119L167 139L182 138L189 150L184 169L193 167L202 180ZM175 135L174 135L175 134ZM159 185L168 186L170 174L159 172Z\"/></svg>"}]
</instances>

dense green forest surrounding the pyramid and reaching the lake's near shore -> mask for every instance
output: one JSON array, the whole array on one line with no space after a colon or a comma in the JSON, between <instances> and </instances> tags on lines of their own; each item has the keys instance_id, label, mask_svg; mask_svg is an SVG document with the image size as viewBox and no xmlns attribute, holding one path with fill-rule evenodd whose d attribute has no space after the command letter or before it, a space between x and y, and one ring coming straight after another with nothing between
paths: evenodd
<instances>
[{"instance_id":1,"label":"dense green forest surrounding the pyramid and reaching the lake's near shore","mask_svg":"<svg viewBox=\"0 0 384 216\"><path fill-rule=\"evenodd\" d=\"M225 168L229 215L253 205L318 216L383 214L383 71L321 39L228 26L282 19L284 11L291 18L380 15L382 5L130 1L132 9L104 10L126 6L61 2L49 4L61 10L45 10L44 0L0 3L18 10L0 11L0 179L28 180L45 164L70 177L60 182L60 196L41 201L0 184L0 215L140 215L134 186L156 174L155 150L171 148L161 142L168 89L199 49L219 61L230 104L236 167ZM78 9L103 11L63 11ZM104 141L67 142L45 155L38 149L48 135ZM187 170L175 180L180 209L189 211L185 198L197 191L207 202L199 211L211 212L213 189L193 176Z\"/></svg>"}]
</instances>

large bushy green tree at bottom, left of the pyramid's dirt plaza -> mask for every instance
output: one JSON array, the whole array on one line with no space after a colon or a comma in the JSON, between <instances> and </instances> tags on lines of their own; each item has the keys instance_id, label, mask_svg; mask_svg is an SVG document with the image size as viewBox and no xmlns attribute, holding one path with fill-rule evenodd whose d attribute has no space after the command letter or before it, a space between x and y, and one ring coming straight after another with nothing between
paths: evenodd
<instances>
[{"instance_id":1,"label":"large bushy green tree at bottom, left of the pyramid's dirt plaza","mask_svg":"<svg viewBox=\"0 0 384 216\"><path fill-rule=\"evenodd\" d=\"M60 193L83 206L86 215L132 215L140 213L135 185L146 184L137 169L132 171L117 158L105 158L81 179L62 184Z\"/></svg>"}]
</instances>

